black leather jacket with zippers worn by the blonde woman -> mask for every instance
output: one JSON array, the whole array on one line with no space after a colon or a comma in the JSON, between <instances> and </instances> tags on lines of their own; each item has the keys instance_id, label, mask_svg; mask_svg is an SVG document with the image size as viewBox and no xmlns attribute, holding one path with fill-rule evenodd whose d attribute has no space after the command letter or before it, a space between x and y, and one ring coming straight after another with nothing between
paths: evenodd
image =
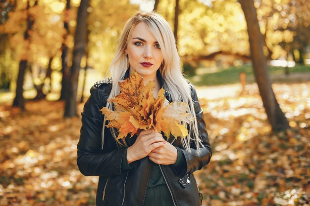
<instances>
[{"instance_id":1,"label":"black leather jacket with zippers worn by the blonde woman","mask_svg":"<svg viewBox=\"0 0 310 206\"><path fill-rule=\"evenodd\" d=\"M175 206L201 206L199 189L193 172L202 169L210 161L212 152L208 140L206 124L203 119L196 91L191 85L192 98L198 122L200 137L204 148L198 156L195 143L191 144L191 153L182 149L180 138L169 138L169 142L182 149L187 168L175 168L171 165L159 165L167 183ZM104 144L102 146L103 115L99 111L106 105L106 99L111 91L108 81L95 84L91 88L91 96L82 112L81 136L77 146L77 165L86 176L99 176L97 189L97 206L143 206L151 171L151 161L148 156L133 162L129 170L121 169L124 148L117 146L110 130L104 130ZM166 97L169 99L168 93ZM131 146L136 135L127 139Z\"/></svg>"}]
</instances>

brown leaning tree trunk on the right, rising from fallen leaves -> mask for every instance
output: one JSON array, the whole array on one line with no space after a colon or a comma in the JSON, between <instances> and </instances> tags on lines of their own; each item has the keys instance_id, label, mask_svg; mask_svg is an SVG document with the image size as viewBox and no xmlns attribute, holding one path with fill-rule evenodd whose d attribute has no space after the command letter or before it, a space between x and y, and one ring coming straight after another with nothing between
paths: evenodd
<instances>
[{"instance_id":1,"label":"brown leaning tree trunk on the right, rising from fallen leaves","mask_svg":"<svg viewBox=\"0 0 310 206\"><path fill-rule=\"evenodd\" d=\"M287 119L275 98L268 74L267 60L263 53L263 39L259 30L257 12L253 0L239 0L248 26L251 57L259 93L268 121L273 131L289 128Z\"/></svg>"}]
</instances>

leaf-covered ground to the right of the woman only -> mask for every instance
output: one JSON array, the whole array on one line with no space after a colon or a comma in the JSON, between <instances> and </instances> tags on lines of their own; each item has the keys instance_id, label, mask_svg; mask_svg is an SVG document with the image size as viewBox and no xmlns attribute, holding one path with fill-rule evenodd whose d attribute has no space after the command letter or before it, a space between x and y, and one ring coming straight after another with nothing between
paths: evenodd
<instances>
[{"instance_id":1,"label":"leaf-covered ground to the right of the woman only","mask_svg":"<svg viewBox=\"0 0 310 206\"><path fill-rule=\"evenodd\" d=\"M310 205L310 83L273 89L292 130L270 132L256 84L201 100L213 149L196 172L204 206Z\"/></svg>"}]
</instances>

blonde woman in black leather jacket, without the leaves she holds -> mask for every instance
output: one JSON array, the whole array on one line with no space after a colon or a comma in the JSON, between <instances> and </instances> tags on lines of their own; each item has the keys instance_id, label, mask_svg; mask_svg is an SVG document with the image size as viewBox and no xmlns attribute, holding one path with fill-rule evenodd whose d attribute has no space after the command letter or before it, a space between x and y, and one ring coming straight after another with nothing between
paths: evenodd
<instances>
[{"instance_id":1,"label":"blonde woman in black leather jacket, without the leaves she holds","mask_svg":"<svg viewBox=\"0 0 310 206\"><path fill-rule=\"evenodd\" d=\"M146 84L155 81L154 95L163 87L169 102L186 102L195 118L185 138L169 141L154 130L116 140L117 131L106 128L102 107L119 94L118 82L138 72ZM169 24L156 12L137 13L120 36L109 67L111 78L97 82L82 113L77 164L86 175L99 176L97 206L200 206L193 172L211 158L196 91L186 81ZM113 80L113 81L112 81ZM103 126L104 125L104 126Z\"/></svg>"}]
</instances>

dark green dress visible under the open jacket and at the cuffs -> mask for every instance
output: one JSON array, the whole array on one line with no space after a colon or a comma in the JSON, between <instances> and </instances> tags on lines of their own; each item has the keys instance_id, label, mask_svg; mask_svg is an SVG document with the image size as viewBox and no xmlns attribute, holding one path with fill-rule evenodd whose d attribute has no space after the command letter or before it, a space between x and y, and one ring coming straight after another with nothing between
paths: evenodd
<instances>
[{"instance_id":1,"label":"dark green dress visible under the open jacket and at the cuffs","mask_svg":"<svg viewBox=\"0 0 310 206\"><path fill-rule=\"evenodd\" d=\"M176 147L178 151L178 158L175 164L172 166L186 167L186 160L180 148ZM127 160L127 148L125 149L122 160ZM131 169L133 164L128 164L128 161L122 161L121 168ZM145 206L174 206L170 191L162 176L161 170L158 164L152 162L151 174L149 185L146 194Z\"/></svg>"}]
</instances>

